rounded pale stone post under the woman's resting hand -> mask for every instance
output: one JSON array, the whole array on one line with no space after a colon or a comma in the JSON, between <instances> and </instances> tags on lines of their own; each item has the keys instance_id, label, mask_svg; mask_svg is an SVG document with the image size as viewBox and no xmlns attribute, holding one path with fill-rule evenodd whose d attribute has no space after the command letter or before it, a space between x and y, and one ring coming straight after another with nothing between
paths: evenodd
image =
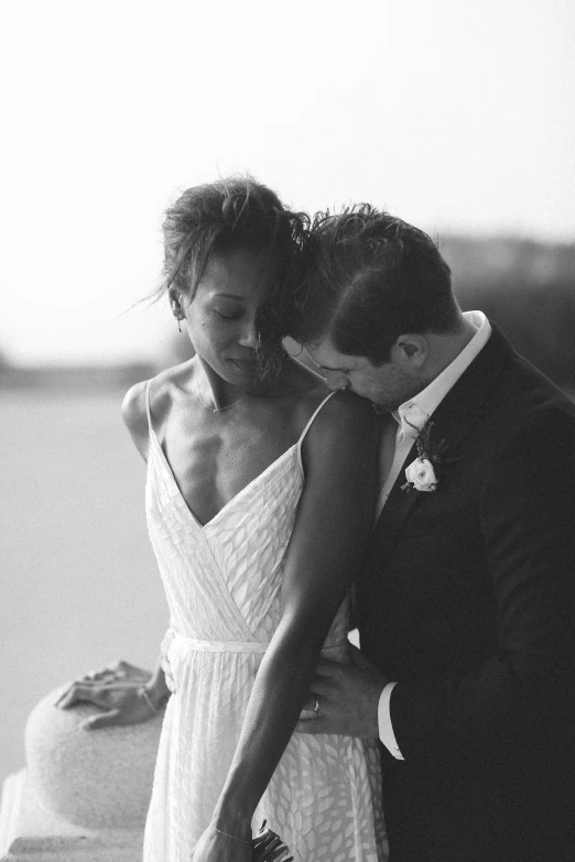
<instances>
[{"instance_id":1,"label":"rounded pale stone post under the woman's resting hand","mask_svg":"<svg viewBox=\"0 0 575 862\"><path fill-rule=\"evenodd\" d=\"M90 705L32 711L26 768L4 782L0 862L140 862L162 714L86 731Z\"/></svg>"}]
</instances>

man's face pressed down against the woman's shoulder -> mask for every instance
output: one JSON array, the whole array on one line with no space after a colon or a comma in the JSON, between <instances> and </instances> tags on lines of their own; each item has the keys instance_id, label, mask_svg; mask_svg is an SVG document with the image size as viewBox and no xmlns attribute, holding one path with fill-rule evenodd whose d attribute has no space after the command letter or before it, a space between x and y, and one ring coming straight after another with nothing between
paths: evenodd
<instances>
[{"instance_id":1,"label":"man's face pressed down against the woman's shoulder","mask_svg":"<svg viewBox=\"0 0 575 862\"><path fill-rule=\"evenodd\" d=\"M373 365L367 357L339 353L329 339L305 345L305 349L324 372L329 389L349 388L381 412L395 410L422 388L421 380L393 359Z\"/></svg>"}]
</instances>

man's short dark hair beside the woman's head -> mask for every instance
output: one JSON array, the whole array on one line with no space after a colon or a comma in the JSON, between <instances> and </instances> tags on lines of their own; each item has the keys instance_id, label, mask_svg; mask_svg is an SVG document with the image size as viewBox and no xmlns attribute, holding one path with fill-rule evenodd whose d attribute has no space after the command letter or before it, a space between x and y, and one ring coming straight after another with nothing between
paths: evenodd
<instances>
[{"instance_id":1,"label":"man's short dark hair beside the woman's head","mask_svg":"<svg viewBox=\"0 0 575 862\"><path fill-rule=\"evenodd\" d=\"M389 360L398 336L457 324L451 270L422 230L369 204L316 214L292 335L329 337L340 353Z\"/></svg>"}]
</instances>

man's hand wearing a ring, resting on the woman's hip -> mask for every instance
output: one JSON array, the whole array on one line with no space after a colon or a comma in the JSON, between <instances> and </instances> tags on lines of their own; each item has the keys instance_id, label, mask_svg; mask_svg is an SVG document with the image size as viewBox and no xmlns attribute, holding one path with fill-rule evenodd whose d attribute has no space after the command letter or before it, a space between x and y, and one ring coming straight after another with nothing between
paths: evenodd
<instances>
[{"instance_id":1,"label":"man's hand wearing a ring, resting on the woman's hip","mask_svg":"<svg viewBox=\"0 0 575 862\"><path fill-rule=\"evenodd\" d=\"M316 711L301 719L300 733L340 733L345 736L378 738L378 705L389 683L378 668L349 644L350 663L321 658L304 709ZM317 710L315 707L317 706Z\"/></svg>"}]
</instances>

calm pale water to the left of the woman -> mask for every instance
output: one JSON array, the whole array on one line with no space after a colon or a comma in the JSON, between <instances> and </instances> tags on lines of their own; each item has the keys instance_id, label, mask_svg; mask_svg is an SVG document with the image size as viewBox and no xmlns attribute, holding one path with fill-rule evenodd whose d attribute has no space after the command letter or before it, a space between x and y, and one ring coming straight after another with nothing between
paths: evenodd
<instances>
[{"instance_id":1,"label":"calm pale water to the left of the woman","mask_svg":"<svg viewBox=\"0 0 575 862\"><path fill-rule=\"evenodd\" d=\"M47 691L158 657L167 610L120 401L0 391L0 782L24 765L25 720Z\"/></svg>"}]
</instances>

